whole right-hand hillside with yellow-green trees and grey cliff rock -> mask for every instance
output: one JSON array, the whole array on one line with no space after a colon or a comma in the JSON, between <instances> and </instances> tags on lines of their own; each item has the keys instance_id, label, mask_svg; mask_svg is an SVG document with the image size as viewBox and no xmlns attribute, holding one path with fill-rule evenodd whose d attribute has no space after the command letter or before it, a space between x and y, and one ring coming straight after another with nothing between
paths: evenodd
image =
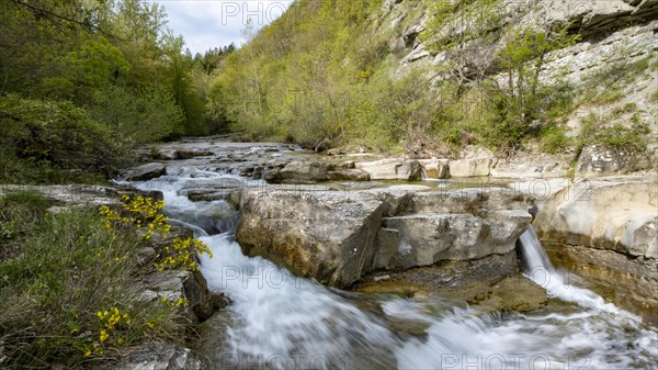
<instances>
[{"instance_id":1,"label":"whole right-hand hillside with yellow-green trees and grey cliff rock","mask_svg":"<svg viewBox=\"0 0 658 370\"><path fill-rule=\"evenodd\" d=\"M593 68L570 56L647 24L655 9L624 18L591 3L567 14L547 1L295 2L258 34L247 25L252 38L227 58L211 98L246 139L316 149L454 157L480 145L502 157L527 148L577 157L593 141L644 153L655 143L655 89L647 82L639 102L627 90L654 79L650 45L603 51Z\"/></svg>"}]
</instances>

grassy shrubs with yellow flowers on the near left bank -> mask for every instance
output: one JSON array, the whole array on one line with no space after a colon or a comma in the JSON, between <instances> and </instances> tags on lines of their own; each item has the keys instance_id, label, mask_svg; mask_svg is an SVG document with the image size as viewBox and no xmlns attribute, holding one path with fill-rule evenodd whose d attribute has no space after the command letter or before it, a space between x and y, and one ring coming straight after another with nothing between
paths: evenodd
<instances>
[{"instance_id":1,"label":"grassy shrubs with yellow flowers on the near left bank","mask_svg":"<svg viewBox=\"0 0 658 370\"><path fill-rule=\"evenodd\" d=\"M34 192L7 192L0 205L0 227L20 227L0 238L0 250L20 246L8 258L0 255L3 368L87 368L147 341L180 340L185 300L144 300L135 289L145 269L137 250L152 235L150 225L167 232L158 222L161 202L127 199L125 211L134 217L126 223L88 209L49 214Z\"/></svg>"}]
</instances>

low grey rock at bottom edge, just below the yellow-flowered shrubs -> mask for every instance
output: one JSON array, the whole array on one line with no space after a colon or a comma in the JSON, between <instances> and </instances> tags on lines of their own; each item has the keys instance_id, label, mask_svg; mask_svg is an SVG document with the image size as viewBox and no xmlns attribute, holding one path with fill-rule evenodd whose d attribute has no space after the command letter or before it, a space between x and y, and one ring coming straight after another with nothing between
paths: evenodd
<instances>
[{"instance_id":1,"label":"low grey rock at bottom edge, just below the yellow-flowered shrubs","mask_svg":"<svg viewBox=\"0 0 658 370\"><path fill-rule=\"evenodd\" d=\"M201 359L189 348L152 343L127 354L118 363L98 370L202 370Z\"/></svg>"}]
</instances>

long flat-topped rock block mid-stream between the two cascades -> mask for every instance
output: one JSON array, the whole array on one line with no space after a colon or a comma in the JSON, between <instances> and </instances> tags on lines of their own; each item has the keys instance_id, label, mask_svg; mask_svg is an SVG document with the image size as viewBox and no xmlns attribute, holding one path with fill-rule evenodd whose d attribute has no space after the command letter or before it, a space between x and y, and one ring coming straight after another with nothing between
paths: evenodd
<instances>
[{"instance_id":1,"label":"long flat-topped rock block mid-stream between the two cascades","mask_svg":"<svg viewBox=\"0 0 658 370\"><path fill-rule=\"evenodd\" d=\"M237 240L248 255L263 256L293 273L349 287L375 269L513 254L532 220L532 203L503 189L245 189Z\"/></svg>"}]
</instances>

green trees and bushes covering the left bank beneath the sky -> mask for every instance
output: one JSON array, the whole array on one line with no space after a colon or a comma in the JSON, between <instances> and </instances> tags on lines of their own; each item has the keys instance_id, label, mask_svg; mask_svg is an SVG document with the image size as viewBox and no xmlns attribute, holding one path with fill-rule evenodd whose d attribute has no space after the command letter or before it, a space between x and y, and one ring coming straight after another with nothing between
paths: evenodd
<instances>
[{"instance_id":1,"label":"green trees and bushes covering the left bank beneath the sky","mask_svg":"<svg viewBox=\"0 0 658 370\"><path fill-rule=\"evenodd\" d=\"M192 56L160 4L3 0L0 14L1 182L112 177L134 144L225 131L206 92L235 47Z\"/></svg>"}]
</instances>

